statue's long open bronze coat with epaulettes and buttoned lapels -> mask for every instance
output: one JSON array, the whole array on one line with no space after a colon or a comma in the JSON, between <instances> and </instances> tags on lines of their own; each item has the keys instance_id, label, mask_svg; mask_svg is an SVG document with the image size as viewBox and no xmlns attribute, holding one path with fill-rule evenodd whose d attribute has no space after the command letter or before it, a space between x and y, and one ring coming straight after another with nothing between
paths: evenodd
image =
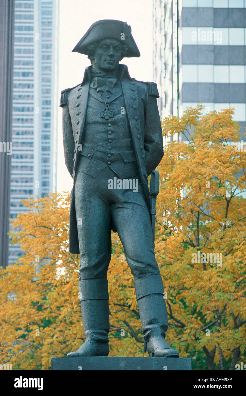
<instances>
[{"instance_id":1,"label":"statue's long open bronze coat with epaulettes and buttoned lapels","mask_svg":"<svg viewBox=\"0 0 246 396\"><path fill-rule=\"evenodd\" d=\"M163 157L161 123L156 102L156 98L159 97L158 89L154 82L141 82L131 78L126 65L119 67L137 173L149 207L147 177ZM82 84L64 89L61 93L65 163L73 180L83 142L91 68L92 66L89 66L85 69ZM70 198L69 253L79 253L74 188Z\"/></svg>"}]
</instances>

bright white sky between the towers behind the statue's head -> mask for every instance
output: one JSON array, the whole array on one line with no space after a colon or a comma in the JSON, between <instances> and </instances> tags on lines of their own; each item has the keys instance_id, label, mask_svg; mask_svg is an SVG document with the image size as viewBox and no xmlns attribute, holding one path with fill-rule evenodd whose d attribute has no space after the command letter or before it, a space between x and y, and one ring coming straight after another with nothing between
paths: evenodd
<instances>
[{"instance_id":1,"label":"bright white sky between the towers behind the statue's head","mask_svg":"<svg viewBox=\"0 0 246 396\"><path fill-rule=\"evenodd\" d=\"M90 65L86 55L71 52L92 23L100 19L118 19L131 26L139 48L139 58L123 58L130 76L152 81L152 0L60 0L59 91L82 82ZM73 187L64 162L62 143L62 108L59 110L57 190Z\"/></svg>"}]
</instances>

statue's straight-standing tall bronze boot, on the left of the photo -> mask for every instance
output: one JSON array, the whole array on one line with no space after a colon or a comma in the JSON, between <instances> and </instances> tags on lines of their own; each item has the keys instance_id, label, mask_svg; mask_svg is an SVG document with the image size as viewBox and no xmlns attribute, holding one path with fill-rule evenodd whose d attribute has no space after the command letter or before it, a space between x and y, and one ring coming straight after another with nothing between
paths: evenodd
<instances>
[{"instance_id":1,"label":"statue's straight-standing tall bronze boot, on the left of the photo","mask_svg":"<svg viewBox=\"0 0 246 396\"><path fill-rule=\"evenodd\" d=\"M106 279L79 281L81 313L86 341L67 356L108 356L109 293Z\"/></svg>"}]
</instances>

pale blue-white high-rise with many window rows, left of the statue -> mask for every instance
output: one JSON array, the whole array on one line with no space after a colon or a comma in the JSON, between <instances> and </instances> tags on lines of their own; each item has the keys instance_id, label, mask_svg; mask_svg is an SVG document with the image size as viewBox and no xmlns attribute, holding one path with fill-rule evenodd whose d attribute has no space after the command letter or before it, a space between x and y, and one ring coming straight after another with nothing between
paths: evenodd
<instances>
[{"instance_id":1,"label":"pale blue-white high-rise with many window rows, left of the statue","mask_svg":"<svg viewBox=\"0 0 246 396\"><path fill-rule=\"evenodd\" d=\"M16 0L10 217L56 190L59 0ZM21 255L9 246L9 263Z\"/></svg>"}]
</instances>

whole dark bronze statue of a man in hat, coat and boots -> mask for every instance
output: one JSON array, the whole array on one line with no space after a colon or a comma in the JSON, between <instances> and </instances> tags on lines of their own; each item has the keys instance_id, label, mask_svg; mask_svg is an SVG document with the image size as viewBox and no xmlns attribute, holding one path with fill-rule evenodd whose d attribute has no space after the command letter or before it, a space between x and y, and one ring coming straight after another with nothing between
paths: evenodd
<instances>
[{"instance_id":1,"label":"whole dark bronze statue of a man in hat, coat and boots","mask_svg":"<svg viewBox=\"0 0 246 396\"><path fill-rule=\"evenodd\" d=\"M112 229L135 278L144 352L178 357L165 341L167 308L154 254L147 180L163 157L158 89L153 82L131 78L127 66L119 65L123 57L140 56L131 27L122 21L94 23L73 51L88 55L92 66L85 69L82 83L62 91L60 101L65 162L74 180L69 252L80 254L86 335L85 343L67 356L109 354Z\"/></svg>"}]
</instances>

